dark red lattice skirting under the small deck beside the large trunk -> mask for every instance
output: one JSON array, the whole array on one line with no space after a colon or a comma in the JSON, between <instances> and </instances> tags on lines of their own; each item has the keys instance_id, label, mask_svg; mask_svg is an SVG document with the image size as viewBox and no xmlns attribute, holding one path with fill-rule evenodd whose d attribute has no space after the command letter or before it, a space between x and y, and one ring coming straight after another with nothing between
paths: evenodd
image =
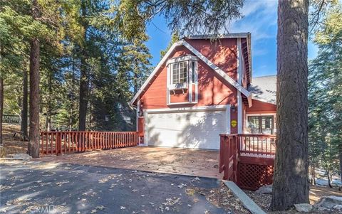
<instances>
[{"instance_id":1,"label":"dark red lattice skirting under the small deck beside the large trunk","mask_svg":"<svg viewBox=\"0 0 342 214\"><path fill-rule=\"evenodd\" d=\"M274 166L240 162L238 168L237 183L240 188L254 191L261 186L272 183Z\"/></svg>"}]
</instances>

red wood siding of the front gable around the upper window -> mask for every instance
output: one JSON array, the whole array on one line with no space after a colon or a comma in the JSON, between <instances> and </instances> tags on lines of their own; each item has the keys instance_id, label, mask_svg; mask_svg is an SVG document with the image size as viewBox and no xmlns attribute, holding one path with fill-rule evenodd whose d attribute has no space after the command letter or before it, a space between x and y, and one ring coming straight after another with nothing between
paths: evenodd
<instances>
[{"instance_id":1,"label":"red wood siding of the front gable around the upper window","mask_svg":"<svg viewBox=\"0 0 342 214\"><path fill-rule=\"evenodd\" d=\"M180 55L191 54L190 50L185 47L178 47L172 54L175 58ZM198 62L198 103L184 104L181 107L190 106L207 106L207 105L236 105L237 90L228 83L223 83L221 77L214 73L212 68L199 60ZM168 108L167 106L167 68L160 68L154 80L150 82L149 87L140 98L143 109ZM188 100L188 92L185 94L170 95L171 102L186 102ZM172 106L174 107L174 106Z\"/></svg>"}]
</instances>

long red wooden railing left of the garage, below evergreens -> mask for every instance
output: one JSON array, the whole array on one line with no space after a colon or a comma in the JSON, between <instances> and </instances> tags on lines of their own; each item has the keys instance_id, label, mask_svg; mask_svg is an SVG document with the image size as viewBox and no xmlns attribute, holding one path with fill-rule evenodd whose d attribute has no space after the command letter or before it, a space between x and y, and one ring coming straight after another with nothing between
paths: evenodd
<instances>
[{"instance_id":1,"label":"long red wooden railing left of the garage, below evergreens","mask_svg":"<svg viewBox=\"0 0 342 214\"><path fill-rule=\"evenodd\" d=\"M41 132L41 154L67 154L92 149L136 146L138 132Z\"/></svg>"}]
</instances>

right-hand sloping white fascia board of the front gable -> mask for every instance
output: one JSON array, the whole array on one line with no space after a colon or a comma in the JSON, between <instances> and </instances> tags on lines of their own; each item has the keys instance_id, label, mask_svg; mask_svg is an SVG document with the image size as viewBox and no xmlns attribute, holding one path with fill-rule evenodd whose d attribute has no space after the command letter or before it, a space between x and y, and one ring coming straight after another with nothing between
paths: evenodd
<instances>
[{"instance_id":1,"label":"right-hand sloping white fascia board of the front gable","mask_svg":"<svg viewBox=\"0 0 342 214\"><path fill-rule=\"evenodd\" d=\"M199 53L198 50L196 50L194 47L192 47L189 43L187 43L186 41L183 42L183 46L185 46L187 49L191 50L192 53L195 53L195 55L197 55L197 57L199 59L201 59L204 63L206 63L207 65L209 65L210 68L212 68L212 70L214 70L220 77L224 78L224 80L226 80L227 82L229 82L229 84L233 85L234 87L237 88L237 90L239 90L240 92L242 92L243 95L245 95L246 97L251 97L251 93L249 91L247 91L244 87L242 87L241 85L239 85L239 83L237 83L235 80L232 79L232 77L229 77L229 75L227 75L226 73L224 73L224 71L222 69L220 69L219 67L217 67L216 65L214 65L214 63L212 63L210 60L208 60L206 57L204 57L204 55L202 55L202 53Z\"/></svg>"}]
</instances>

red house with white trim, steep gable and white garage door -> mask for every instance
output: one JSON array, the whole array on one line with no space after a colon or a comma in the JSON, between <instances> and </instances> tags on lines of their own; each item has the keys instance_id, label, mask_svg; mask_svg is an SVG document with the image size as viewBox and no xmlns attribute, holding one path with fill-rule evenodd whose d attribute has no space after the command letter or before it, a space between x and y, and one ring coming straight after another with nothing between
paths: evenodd
<instances>
[{"instance_id":1,"label":"red house with white trim, steep gable and white garage door","mask_svg":"<svg viewBox=\"0 0 342 214\"><path fill-rule=\"evenodd\" d=\"M276 76L252 78L251 33L173 44L131 104L145 146L219 149L219 134L274 134Z\"/></svg>"}]
</instances>

